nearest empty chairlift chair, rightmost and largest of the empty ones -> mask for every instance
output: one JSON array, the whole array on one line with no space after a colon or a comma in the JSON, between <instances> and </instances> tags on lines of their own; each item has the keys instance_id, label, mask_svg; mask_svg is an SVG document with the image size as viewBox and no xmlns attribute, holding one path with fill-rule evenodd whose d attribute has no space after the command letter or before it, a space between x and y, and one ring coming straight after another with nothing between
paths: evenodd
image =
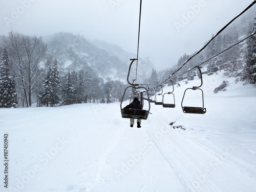
<instances>
[{"instance_id":1,"label":"nearest empty chairlift chair, rightmost and largest of the empty ones","mask_svg":"<svg viewBox=\"0 0 256 192\"><path fill-rule=\"evenodd\" d=\"M206 108L204 108L204 93L203 93L203 90L200 89L200 87L203 85L203 78L202 78L202 71L201 71L201 67L197 66L197 68L199 69L200 71L200 77L201 77L201 85L198 86L198 87L193 87L193 88L187 88L184 92L184 95L183 95L183 98L182 98L182 102L181 102L181 107L182 107L182 110L184 113L194 113L194 114L204 114L206 113ZM183 104L183 100L184 100L184 96L185 96L185 93L188 89L192 89L192 90L201 90L202 92L202 104L203 106L202 107L184 107L182 104Z\"/></svg>"}]
</instances>

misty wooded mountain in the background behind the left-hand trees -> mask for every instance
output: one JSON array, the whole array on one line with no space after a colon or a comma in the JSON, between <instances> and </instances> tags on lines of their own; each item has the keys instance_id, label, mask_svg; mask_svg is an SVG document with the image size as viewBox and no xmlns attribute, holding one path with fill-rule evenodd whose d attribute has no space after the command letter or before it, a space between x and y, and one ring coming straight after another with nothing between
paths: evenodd
<instances>
[{"instance_id":1,"label":"misty wooded mountain in the background behind the left-hand trees","mask_svg":"<svg viewBox=\"0 0 256 192\"><path fill-rule=\"evenodd\" d=\"M125 81L130 59L136 57L116 45L103 41L91 43L83 36L71 33L57 33L45 37L44 40L48 43L49 54L52 54L59 63L60 74L69 70L85 69L104 80L110 78ZM144 79L142 74L149 75L152 64L143 58L140 58L140 62L138 77Z\"/></svg>"}]
</instances>

